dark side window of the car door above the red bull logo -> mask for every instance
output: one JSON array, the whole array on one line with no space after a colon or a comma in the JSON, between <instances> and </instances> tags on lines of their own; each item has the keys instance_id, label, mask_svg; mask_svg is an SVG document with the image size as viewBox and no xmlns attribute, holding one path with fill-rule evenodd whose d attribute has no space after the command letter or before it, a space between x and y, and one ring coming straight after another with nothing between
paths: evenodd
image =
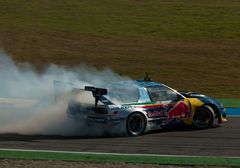
<instances>
[{"instance_id":1,"label":"dark side window of the car door above the red bull logo","mask_svg":"<svg viewBox=\"0 0 240 168\"><path fill-rule=\"evenodd\" d=\"M176 101L177 93L165 86L152 86L147 88L152 101Z\"/></svg>"}]
</instances>

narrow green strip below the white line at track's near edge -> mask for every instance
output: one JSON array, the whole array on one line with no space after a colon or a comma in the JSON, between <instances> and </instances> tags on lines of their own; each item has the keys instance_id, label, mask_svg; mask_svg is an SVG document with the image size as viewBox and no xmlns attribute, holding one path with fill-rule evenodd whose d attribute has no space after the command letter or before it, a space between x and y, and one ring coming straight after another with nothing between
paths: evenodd
<instances>
[{"instance_id":1,"label":"narrow green strip below the white line at track's near edge","mask_svg":"<svg viewBox=\"0 0 240 168\"><path fill-rule=\"evenodd\" d=\"M181 157L181 156L134 156L111 154L77 154L59 152L0 151L0 158L63 160L96 163L161 164L182 166L240 166L239 158L231 157Z\"/></svg>"}]
</instances>

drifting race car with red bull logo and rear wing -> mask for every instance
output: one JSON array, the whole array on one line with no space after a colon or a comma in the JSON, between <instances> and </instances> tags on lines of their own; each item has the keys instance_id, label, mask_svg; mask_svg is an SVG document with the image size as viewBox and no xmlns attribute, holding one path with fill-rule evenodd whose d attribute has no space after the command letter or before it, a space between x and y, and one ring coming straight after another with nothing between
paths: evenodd
<instances>
[{"instance_id":1,"label":"drifting race car with red bull logo and rear wing","mask_svg":"<svg viewBox=\"0 0 240 168\"><path fill-rule=\"evenodd\" d=\"M225 109L217 100L198 93L178 92L148 77L117 82L107 88L85 86L85 92L92 92L95 103L72 98L68 116L84 118L91 125L109 129L119 127L119 132L125 130L129 136L142 135L176 122L205 129L215 121L227 121Z\"/></svg>"}]
</instances>

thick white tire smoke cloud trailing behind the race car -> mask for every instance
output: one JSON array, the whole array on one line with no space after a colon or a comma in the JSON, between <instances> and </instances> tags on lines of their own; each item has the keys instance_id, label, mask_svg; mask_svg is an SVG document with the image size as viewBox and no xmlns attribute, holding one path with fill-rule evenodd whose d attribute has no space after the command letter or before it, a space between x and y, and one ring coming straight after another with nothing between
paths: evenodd
<instances>
[{"instance_id":1,"label":"thick white tire smoke cloud trailing behind the race car","mask_svg":"<svg viewBox=\"0 0 240 168\"><path fill-rule=\"evenodd\" d=\"M70 83L70 90L85 85L104 87L125 79L128 78L110 69L99 71L86 65L73 69L50 65L39 74L27 63L17 66L9 55L0 51L0 134L96 136L99 130L67 117L69 99L55 101L53 82Z\"/></svg>"}]
</instances>

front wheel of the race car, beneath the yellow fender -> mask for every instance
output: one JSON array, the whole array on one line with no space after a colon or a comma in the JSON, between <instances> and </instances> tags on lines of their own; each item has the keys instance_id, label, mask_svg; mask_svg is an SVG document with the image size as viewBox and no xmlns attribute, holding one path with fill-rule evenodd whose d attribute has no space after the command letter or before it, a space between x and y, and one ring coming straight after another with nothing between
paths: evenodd
<instances>
[{"instance_id":1,"label":"front wheel of the race car, beneath the yellow fender","mask_svg":"<svg viewBox=\"0 0 240 168\"><path fill-rule=\"evenodd\" d=\"M214 116L214 110L210 106L200 107L194 113L193 126L198 129L209 128L214 122Z\"/></svg>"}]
</instances>

